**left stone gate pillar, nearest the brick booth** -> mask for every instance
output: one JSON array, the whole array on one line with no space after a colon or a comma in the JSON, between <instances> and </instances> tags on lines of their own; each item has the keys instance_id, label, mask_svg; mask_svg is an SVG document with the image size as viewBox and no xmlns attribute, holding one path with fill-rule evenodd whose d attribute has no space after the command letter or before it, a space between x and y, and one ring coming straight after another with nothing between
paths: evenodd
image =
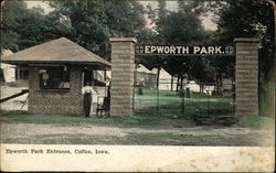
<instances>
[{"instance_id":1,"label":"left stone gate pillar, nearest the brick booth","mask_svg":"<svg viewBox=\"0 0 276 173\"><path fill-rule=\"evenodd\" d=\"M134 37L110 37L112 84L110 115L130 116L134 112Z\"/></svg>"}]
</instances>

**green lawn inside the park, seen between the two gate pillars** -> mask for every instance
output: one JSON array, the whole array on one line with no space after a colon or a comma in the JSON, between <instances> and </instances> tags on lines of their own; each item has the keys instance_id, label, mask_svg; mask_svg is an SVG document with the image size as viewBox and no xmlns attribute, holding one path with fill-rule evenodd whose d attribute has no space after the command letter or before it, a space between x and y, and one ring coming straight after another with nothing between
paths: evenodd
<instances>
[{"instance_id":1,"label":"green lawn inside the park, seen between the two gate pillars","mask_svg":"<svg viewBox=\"0 0 276 173\"><path fill-rule=\"evenodd\" d=\"M217 117L233 116L232 98L191 94L190 98L181 98L176 91L144 89L144 95L135 95L135 112L158 116L177 116L181 118L201 119L204 125L215 125ZM208 120L208 121L206 121ZM201 123L202 120L195 120Z\"/></svg>"}]
</instances>

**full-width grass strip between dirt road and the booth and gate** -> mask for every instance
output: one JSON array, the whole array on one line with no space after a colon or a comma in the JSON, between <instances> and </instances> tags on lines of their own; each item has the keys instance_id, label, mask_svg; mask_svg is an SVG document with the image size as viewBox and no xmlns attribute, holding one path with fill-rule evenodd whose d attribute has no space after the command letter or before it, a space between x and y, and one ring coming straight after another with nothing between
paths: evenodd
<instances>
[{"instance_id":1,"label":"full-width grass strip between dirt road and the booth and gate","mask_svg":"<svg viewBox=\"0 0 276 173\"><path fill-rule=\"evenodd\" d=\"M120 128L156 128L170 129L182 127L194 127L197 125L221 125L217 122L220 117L225 118L224 121L235 120L238 127L244 128L273 128L275 126L273 117L252 116L232 118L224 116L224 111L214 111L215 113L205 115L204 112L195 112L182 117L173 117L170 115L157 116L149 113L138 113L134 116L112 116L110 118L98 118L95 115L84 118L74 115L34 115L28 111L0 111L1 122L4 123L38 123L38 125L62 125L62 126L79 126L94 125ZM200 116L199 116L200 115ZM204 123L199 123L197 118L202 118ZM201 120L202 121L202 120ZM223 125L223 123L222 123ZM229 126L229 125L225 125Z\"/></svg>"}]
</instances>

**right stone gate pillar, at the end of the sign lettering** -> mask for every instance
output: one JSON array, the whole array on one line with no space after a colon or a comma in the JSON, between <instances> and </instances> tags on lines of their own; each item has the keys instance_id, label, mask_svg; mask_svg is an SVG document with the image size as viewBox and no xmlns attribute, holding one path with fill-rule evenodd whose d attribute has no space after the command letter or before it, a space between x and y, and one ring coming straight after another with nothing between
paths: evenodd
<instances>
[{"instance_id":1,"label":"right stone gate pillar, at the end of the sign lettering","mask_svg":"<svg viewBox=\"0 0 276 173\"><path fill-rule=\"evenodd\" d=\"M235 64L235 115L258 115L258 43L257 39L237 37Z\"/></svg>"}]
</instances>

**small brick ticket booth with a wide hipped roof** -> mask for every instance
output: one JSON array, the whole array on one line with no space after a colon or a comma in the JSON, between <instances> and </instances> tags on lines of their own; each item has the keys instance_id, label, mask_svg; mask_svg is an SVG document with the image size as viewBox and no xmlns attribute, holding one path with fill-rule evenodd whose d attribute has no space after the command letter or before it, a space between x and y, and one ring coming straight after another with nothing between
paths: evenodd
<instances>
[{"instance_id":1,"label":"small brick ticket booth with a wide hipped roof","mask_svg":"<svg viewBox=\"0 0 276 173\"><path fill-rule=\"evenodd\" d=\"M1 61L29 69L29 111L35 113L83 113L83 85L86 82L93 85L93 71L106 71L112 66L65 37Z\"/></svg>"}]
</instances>

